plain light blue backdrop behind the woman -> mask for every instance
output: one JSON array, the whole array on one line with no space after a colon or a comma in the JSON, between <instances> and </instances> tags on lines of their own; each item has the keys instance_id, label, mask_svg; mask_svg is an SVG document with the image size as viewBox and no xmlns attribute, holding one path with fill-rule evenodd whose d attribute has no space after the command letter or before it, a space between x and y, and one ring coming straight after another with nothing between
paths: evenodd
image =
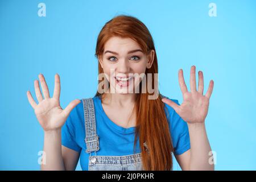
<instances>
[{"instance_id":1,"label":"plain light blue backdrop behind the woman","mask_svg":"<svg viewBox=\"0 0 256 182\"><path fill-rule=\"evenodd\" d=\"M46 3L46 17L38 4ZM208 15L209 3L217 16ZM159 89L182 102L177 71L191 65L214 80L206 119L217 170L256 169L256 1L3 1L0 0L0 169L38 170L43 129L27 101L43 73L61 106L97 89L97 35L115 15L132 15L151 31ZM77 169L80 168L80 164ZM180 170L177 163L174 169Z\"/></svg>"}]
</instances>

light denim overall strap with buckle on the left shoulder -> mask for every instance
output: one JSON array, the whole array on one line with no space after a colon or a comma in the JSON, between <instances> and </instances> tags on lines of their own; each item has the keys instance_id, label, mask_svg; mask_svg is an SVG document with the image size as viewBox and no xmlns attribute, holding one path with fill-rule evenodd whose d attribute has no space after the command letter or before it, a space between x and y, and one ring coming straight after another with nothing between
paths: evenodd
<instances>
[{"instance_id":1,"label":"light denim overall strap with buckle on the left shoulder","mask_svg":"<svg viewBox=\"0 0 256 182\"><path fill-rule=\"evenodd\" d=\"M86 153L100 150L98 135L96 133L96 118L92 98L82 99L84 105L84 125L85 125L85 144Z\"/></svg>"}]
</instances>

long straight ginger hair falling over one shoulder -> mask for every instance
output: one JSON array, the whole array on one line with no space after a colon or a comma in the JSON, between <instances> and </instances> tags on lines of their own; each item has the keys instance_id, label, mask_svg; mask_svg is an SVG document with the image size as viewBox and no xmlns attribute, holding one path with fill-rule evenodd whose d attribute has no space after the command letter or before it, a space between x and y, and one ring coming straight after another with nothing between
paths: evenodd
<instances>
[{"instance_id":1,"label":"long straight ginger hair falling over one shoulder","mask_svg":"<svg viewBox=\"0 0 256 182\"><path fill-rule=\"evenodd\" d=\"M147 27L133 16L119 15L109 20L100 31L95 53L97 58L103 55L105 43L113 36L135 40L141 46L144 53L150 52L151 49L155 51L154 41ZM104 73L100 64L98 64L98 73ZM156 88L156 85L154 85L154 73L158 73L156 53L151 68L146 69L145 74L147 75L147 73L153 75L152 87ZM100 83L101 81L99 80L98 82ZM171 170L171 152L174 148L172 146L167 117L164 113L164 104L161 100L162 95L159 94L155 100L148 100L149 95L146 89L146 93L140 92L136 97L134 110L137 127L135 127L134 147L139 136L144 170ZM102 98L102 93L97 91L96 96ZM144 147L144 142L146 142L147 148Z\"/></svg>"}]
</instances>

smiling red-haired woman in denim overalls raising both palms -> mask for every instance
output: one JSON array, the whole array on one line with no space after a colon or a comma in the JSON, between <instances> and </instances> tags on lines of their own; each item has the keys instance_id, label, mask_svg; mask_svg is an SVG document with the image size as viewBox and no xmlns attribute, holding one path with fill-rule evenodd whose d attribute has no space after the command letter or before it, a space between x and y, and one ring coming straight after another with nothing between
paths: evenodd
<instances>
[{"instance_id":1,"label":"smiling red-haired woman in denim overalls raising both palms","mask_svg":"<svg viewBox=\"0 0 256 182\"><path fill-rule=\"evenodd\" d=\"M188 92L180 69L181 105L161 94L149 99L148 85L158 93L157 77L149 77L151 83L149 79L145 85L144 77L138 75L157 74L158 60L150 32L132 16L116 16L105 24L98 35L96 56L98 72L107 84L99 80L93 98L74 100L62 109L59 75L55 75L52 98L42 74L44 98L39 81L34 83L39 104L27 92L44 130L43 170L74 170L79 157L84 170L171 170L171 152L183 170L214 169L204 124L212 80L203 96L203 72L196 90L192 66ZM139 93L134 93L138 88Z\"/></svg>"}]
</instances>

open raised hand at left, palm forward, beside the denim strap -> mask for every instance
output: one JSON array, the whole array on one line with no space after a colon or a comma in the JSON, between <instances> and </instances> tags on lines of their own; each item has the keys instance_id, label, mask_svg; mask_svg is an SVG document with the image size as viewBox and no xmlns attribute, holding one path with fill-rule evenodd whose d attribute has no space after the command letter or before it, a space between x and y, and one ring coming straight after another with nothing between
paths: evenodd
<instances>
[{"instance_id":1,"label":"open raised hand at left, palm forward, beside the denim strap","mask_svg":"<svg viewBox=\"0 0 256 182\"><path fill-rule=\"evenodd\" d=\"M58 130L64 125L68 118L71 110L80 103L80 100L74 100L65 108L62 109L60 106L60 76L55 75L55 86L53 97L49 97L49 90L46 84L46 80L42 74L39 75L40 84L43 91L43 96L39 88L39 81L34 81L36 98L38 99L38 104L32 98L30 91L27 91L27 98L30 105L33 107L36 118L40 125L43 127L44 131Z\"/></svg>"}]
</instances>

